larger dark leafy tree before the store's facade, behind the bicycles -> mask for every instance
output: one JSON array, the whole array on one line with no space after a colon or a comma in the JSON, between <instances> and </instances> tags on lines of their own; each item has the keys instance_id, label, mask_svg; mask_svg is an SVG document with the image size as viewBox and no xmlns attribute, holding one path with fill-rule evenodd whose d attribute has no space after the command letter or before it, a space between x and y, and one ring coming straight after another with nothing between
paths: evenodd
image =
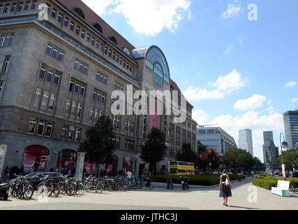
<instances>
[{"instance_id":1,"label":"larger dark leafy tree before the store's facade, behind the bicycles","mask_svg":"<svg viewBox=\"0 0 298 224\"><path fill-rule=\"evenodd\" d=\"M89 162L96 163L96 172L100 164L111 163L115 148L115 132L108 116L100 116L93 127L86 131L86 139L80 144L80 152L86 153Z\"/></svg>"}]
</instances>

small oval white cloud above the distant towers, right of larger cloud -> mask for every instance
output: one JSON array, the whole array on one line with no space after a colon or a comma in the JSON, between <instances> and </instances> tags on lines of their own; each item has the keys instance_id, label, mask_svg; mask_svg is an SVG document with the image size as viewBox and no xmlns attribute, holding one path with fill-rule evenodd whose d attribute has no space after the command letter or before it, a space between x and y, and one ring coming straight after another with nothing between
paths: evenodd
<instances>
[{"instance_id":1,"label":"small oval white cloud above the distant towers, right of larger cloud","mask_svg":"<svg viewBox=\"0 0 298 224\"><path fill-rule=\"evenodd\" d=\"M264 104L266 99L267 98L262 95L253 94L251 98L239 99L236 104L234 104L234 109L243 111L257 109Z\"/></svg>"}]
</instances>

